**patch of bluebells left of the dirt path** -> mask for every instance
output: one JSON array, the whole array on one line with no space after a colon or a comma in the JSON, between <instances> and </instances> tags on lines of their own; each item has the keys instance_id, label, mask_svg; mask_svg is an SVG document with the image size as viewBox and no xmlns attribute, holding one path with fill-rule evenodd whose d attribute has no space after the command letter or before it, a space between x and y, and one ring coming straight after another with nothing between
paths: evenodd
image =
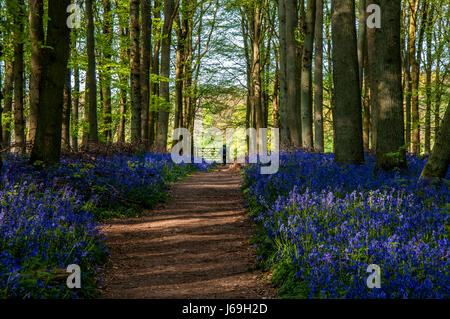
<instances>
[{"instance_id":1,"label":"patch of bluebells left of the dirt path","mask_svg":"<svg viewBox=\"0 0 450 319\"><path fill-rule=\"evenodd\" d=\"M8 155L0 187L0 298L86 298L96 295L108 258L98 214L151 207L168 184L209 165L175 165L169 155L64 158L38 170ZM66 286L70 264L82 269L82 289Z\"/></svg>"}]
</instances>

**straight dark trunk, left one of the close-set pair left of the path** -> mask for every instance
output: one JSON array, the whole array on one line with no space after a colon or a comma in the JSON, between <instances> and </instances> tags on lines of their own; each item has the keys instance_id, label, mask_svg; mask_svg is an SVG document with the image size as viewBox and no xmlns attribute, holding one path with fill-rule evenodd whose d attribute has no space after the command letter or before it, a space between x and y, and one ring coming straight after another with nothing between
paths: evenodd
<instances>
[{"instance_id":1,"label":"straight dark trunk, left one of the close-set pair left of the path","mask_svg":"<svg viewBox=\"0 0 450 319\"><path fill-rule=\"evenodd\" d=\"M130 0L131 142L141 141L140 0Z\"/></svg>"}]
</instances>

